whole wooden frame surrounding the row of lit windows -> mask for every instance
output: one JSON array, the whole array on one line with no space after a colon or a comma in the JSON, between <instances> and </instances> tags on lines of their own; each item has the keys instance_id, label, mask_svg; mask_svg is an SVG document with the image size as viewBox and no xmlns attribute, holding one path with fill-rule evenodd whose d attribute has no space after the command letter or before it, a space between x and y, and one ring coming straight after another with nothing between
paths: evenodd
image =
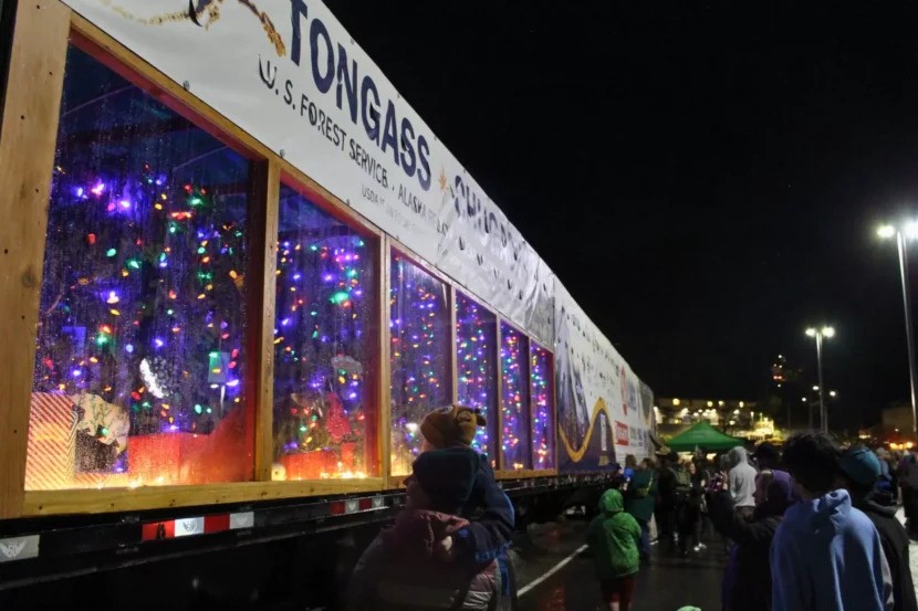
<instances>
[{"instance_id":1,"label":"whole wooden frame surrounding the row of lit windows","mask_svg":"<svg viewBox=\"0 0 918 611\"><path fill-rule=\"evenodd\" d=\"M392 361L389 340L389 294L393 250L442 282L447 287L450 313L449 375L450 397L458 398L456 350L457 291L484 305L486 302L446 276L416 252L357 214L300 169L255 140L229 119L198 102L123 44L60 0L13 0L18 14L11 44L9 87L0 130L0 183L3 199L0 210L7 222L0 224L0 247L7 264L2 266L0 293L0 358L10 364L0 376L0 519L61 513L142 510L164 507L200 506L293 498L309 495L366 493L390 489L403 484L393 476L392 452ZM38 2L38 3L35 3ZM32 365L34 361L39 292L45 246L49 191L56 148L58 123L69 44L93 55L121 76L136 84L178 115L192 119L211 136L228 144L252 161L249 214L252 228L252 255L247 291L251 307L248 350L251 366L244 380L249 404L247 425L253 431L252 482L201 486L150 486L137 488L75 488L66 491L24 491L25 452ZM23 86L22 84L27 84ZM372 477L361 480L316 480L272 482L273 463L273 327L278 252L279 196L285 183L313 199L321 208L376 240L378 270L378 346L375 394L379 413L376 426L377 462ZM259 276L259 273L262 277ZM255 307L260 304L261 307ZM498 425L495 455L502 462L500 348L501 323L495 315ZM508 324L511 324L508 322ZM511 324L512 325L512 324ZM514 328L517 328L514 326ZM525 331L521 335L531 340ZM551 351L551 350L550 350ZM553 351L552 351L553 356ZM554 359L552 359L554 362ZM552 381L553 386L553 381ZM369 425L367 426L369 434ZM557 452L557 444L555 444ZM555 456L555 464L557 456ZM500 471L505 477L538 477L556 473L545 471Z\"/></svg>"}]
</instances>

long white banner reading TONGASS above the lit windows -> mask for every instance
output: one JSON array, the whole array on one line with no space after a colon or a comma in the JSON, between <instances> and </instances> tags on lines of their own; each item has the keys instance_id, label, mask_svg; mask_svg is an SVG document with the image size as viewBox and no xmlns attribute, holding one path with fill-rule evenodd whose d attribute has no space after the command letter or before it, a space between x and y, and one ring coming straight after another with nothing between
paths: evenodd
<instances>
[{"instance_id":1,"label":"long white banner reading TONGASS above the lit windows","mask_svg":"<svg viewBox=\"0 0 918 611\"><path fill-rule=\"evenodd\" d=\"M551 272L317 0L64 0L547 346Z\"/></svg>"}]
</instances>

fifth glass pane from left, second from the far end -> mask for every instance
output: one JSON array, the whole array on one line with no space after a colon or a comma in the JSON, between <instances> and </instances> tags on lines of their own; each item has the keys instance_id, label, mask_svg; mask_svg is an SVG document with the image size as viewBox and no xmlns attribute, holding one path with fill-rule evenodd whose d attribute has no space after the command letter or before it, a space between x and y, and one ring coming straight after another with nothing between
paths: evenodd
<instances>
[{"instance_id":1,"label":"fifth glass pane from left, second from the far end","mask_svg":"<svg viewBox=\"0 0 918 611\"><path fill-rule=\"evenodd\" d=\"M532 468L529 417L529 347L526 337L501 323L501 415L504 470Z\"/></svg>"}]
</instances>

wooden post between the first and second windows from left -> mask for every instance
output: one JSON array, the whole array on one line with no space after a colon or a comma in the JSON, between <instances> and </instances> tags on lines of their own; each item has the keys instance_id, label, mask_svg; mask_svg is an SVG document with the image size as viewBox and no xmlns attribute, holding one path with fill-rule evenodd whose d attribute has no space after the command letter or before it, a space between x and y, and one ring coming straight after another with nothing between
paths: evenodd
<instances>
[{"instance_id":1,"label":"wooden post between the first and second windows from left","mask_svg":"<svg viewBox=\"0 0 918 611\"><path fill-rule=\"evenodd\" d=\"M273 160L254 162L252 170L252 259L247 283L250 344L254 347L249 351L248 391L254 405L249 412L253 426L248 430L254 430L254 480L270 482L274 462L274 302L281 171Z\"/></svg>"}]
</instances>

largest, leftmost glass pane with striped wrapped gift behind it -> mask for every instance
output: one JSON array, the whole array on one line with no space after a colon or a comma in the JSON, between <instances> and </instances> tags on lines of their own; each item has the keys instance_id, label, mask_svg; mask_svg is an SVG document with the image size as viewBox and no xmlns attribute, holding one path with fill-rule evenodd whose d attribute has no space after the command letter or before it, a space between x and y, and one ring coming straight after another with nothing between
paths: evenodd
<instances>
[{"instance_id":1,"label":"largest, leftmost glass pane with striped wrapped gift behind it","mask_svg":"<svg viewBox=\"0 0 918 611\"><path fill-rule=\"evenodd\" d=\"M28 489L250 480L248 161L70 49Z\"/></svg>"}]
</instances>

